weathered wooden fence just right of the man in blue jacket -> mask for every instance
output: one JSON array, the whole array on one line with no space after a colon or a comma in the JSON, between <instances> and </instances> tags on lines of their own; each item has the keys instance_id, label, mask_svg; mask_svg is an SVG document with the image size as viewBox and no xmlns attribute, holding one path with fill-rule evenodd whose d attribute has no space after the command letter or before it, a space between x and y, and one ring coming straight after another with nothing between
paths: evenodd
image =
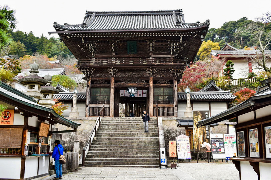
<instances>
[{"instance_id":1,"label":"weathered wooden fence just right of the man in blue jacket","mask_svg":"<svg viewBox=\"0 0 271 180\"><path fill-rule=\"evenodd\" d=\"M66 163L62 164L62 171L74 170L79 167L79 152L68 152L63 155L66 157Z\"/></svg>"}]
</instances>

